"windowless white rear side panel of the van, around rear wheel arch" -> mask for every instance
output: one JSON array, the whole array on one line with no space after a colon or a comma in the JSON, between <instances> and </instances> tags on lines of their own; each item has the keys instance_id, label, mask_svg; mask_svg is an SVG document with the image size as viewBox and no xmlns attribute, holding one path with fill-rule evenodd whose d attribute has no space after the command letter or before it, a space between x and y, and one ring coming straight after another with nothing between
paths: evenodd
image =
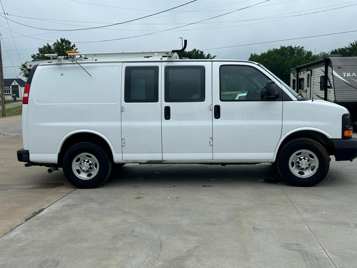
<instances>
[{"instance_id":1,"label":"windowless white rear side panel of the van, around rear wheel arch","mask_svg":"<svg viewBox=\"0 0 357 268\"><path fill-rule=\"evenodd\" d=\"M120 71L122 63L39 65L28 104L30 161L57 163L61 141L71 132L93 130L121 158Z\"/></svg>"}]
</instances>

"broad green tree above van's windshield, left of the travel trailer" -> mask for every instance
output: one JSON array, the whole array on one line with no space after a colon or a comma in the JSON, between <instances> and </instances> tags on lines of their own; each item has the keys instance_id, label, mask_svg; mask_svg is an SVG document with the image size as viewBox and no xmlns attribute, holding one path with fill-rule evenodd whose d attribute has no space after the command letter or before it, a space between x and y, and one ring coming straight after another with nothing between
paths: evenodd
<instances>
[{"instance_id":1,"label":"broad green tree above van's windshield, left of the travel trailer","mask_svg":"<svg viewBox=\"0 0 357 268\"><path fill-rule=\"evenodd\" d=\"M251 53L248 60L263 64L286 84L290 84L290 69L321 59L326 54L321 52L314 55L312 51L306 50L303 46L290 45L268 49L268 51L261 54Z\"/></svg>"}]
</instances>

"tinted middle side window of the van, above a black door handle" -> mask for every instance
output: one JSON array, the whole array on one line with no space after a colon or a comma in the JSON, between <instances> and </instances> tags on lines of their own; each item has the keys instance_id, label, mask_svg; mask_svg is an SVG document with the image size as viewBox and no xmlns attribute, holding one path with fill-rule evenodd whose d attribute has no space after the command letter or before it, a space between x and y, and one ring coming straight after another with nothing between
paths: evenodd
<instances>
[{"instance_id":1,"label":"tinted middle side window of the van, above a black door handle","mask_svg":"<svg viewBox=\"0 0 357 268\"><path fill-rule=\"evenodd\" d=\"M205 67L166 66L165 102L205 101Z\"/></svg>"}]
</instances>

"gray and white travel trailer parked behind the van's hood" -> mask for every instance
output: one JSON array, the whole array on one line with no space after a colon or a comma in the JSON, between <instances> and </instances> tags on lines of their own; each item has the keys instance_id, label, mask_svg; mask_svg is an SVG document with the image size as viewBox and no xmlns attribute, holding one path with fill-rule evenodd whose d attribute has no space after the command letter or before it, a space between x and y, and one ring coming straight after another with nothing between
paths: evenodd
<instances>
[{"instance_id":1,"label":"gray and white travel trailer parked behind the van's hood","mask_svg":"<svg viewBox=\"0 0 357 268\"><path fill-rule=\"evenodd\" d=\"M290 70L290 86L309 99L346 107L357 121L357 57L326 55Z\"/></svg>"}]
</instances>

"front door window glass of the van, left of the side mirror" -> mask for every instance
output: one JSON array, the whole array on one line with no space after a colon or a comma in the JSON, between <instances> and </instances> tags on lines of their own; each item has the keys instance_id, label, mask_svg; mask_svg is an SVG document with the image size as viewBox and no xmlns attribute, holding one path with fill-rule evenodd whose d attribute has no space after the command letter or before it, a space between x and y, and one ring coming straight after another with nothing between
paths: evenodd
<instances>
[{"instance_id":1,"label":"front door window glass of the van, left of the side mirror","mask_svg":"<svg viewBox=\"0 0 357 268\"><path fill-rule=\"evenodd\" d=\"M220 100L265 100L269 79L251 66L222 65L220 67Z\"/></svg>"}]
</instances>

